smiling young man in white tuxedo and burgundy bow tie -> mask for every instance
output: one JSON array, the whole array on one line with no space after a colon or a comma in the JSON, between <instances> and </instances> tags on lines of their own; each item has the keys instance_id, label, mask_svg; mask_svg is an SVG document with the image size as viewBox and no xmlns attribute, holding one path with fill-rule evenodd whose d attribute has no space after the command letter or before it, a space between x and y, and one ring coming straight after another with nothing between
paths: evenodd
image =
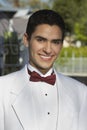
<instances>
[{"instance_id":1,"label":"smiling young man in white tuxedo and burgundy bow tie","mask_svg":"<svg viewBox=\"0 0 87 130\"><path fill-rule=\"evenodd\" d=\"M87 87L56 72L65 25L52 10L29 18L29 64L0 78L0 130L87 130Z\"/></svg>"}]
</instances>

